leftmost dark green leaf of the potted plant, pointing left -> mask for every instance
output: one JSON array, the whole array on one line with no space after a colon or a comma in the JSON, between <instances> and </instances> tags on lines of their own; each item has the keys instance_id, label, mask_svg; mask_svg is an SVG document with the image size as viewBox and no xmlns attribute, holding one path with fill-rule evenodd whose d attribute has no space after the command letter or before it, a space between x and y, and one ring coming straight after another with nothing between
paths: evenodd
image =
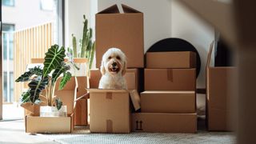
<instances>
[{"instance_id":1,"label":"leftmost dark green leaf of the potted plant, pointing left","mask_svg":"<svg viewBox=\"0 0 256 144\"><path fill-rule=\"evenodd\" d=\"M24 74L22 74L20 77L18 77L15 82L27 82L30 81L30 77L32 75L42 75L42 69L40 66L34 66L34 68L30 68L29 71L26 71Z\"/></svg>"}]
</instances>

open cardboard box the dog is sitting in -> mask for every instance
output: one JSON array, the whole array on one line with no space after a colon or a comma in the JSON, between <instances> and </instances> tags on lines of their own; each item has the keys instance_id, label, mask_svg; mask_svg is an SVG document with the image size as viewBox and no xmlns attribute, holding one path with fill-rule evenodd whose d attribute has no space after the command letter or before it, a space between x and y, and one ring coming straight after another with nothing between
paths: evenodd
<instances>
[{"instance_id":1,"label":"open cardboard box the dog is sitting in","mask_svg":"<svg viewBox=\"0 0 256 144\"><path fill-rule=\"evenodd\" d=\"M130 133L128 90L90 89L90 132Z\"/></svg>"}]
</instances>

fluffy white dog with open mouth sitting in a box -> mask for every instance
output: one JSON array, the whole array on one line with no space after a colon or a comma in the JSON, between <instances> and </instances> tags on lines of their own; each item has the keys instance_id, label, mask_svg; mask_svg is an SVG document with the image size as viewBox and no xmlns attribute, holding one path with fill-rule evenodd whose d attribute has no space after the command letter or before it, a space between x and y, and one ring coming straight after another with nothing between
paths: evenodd
<instances>
[{"instance_id":1,"label":"fluffy white dog with open mouth sitting in a box","mask_svg":"<svg viewBox=\"0 0 256 144\"><path fill-rule=\"evenodd\" d=\"M126 79L126 55L118 48L110 48L102 56L102 78L99 81L99 89L127 89Z\"/></svg>"}]
</instances>

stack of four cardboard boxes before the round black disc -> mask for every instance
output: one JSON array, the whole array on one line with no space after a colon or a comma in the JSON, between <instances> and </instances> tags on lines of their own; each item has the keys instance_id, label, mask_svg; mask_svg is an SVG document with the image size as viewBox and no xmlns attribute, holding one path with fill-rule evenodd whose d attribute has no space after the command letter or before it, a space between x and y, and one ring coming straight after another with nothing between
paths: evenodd
<instances>
[{"instance_id":1,"label":"stack of four cardboard boxes before the round black disc","mask_svg":"<svg viewBox=\"0 0 256 144\"><path fill-rule=\"evenodd\" d=\"M141 113L132 114L134 131L194 133L196 114L194 52L146 54Z\"/></svg>"}]
</instances>

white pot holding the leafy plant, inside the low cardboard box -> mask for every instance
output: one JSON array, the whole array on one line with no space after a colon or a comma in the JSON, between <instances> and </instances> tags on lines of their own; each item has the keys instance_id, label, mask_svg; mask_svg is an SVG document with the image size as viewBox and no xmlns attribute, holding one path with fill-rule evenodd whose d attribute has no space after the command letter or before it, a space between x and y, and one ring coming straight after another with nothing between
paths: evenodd
<instances>
[{"instance_id":1,"label":"white pot holding the leafy plant, inside the low cardboard box","mask_svg":"<svg viewBox=\"0 0 256 144\"><path fill-rule=\"evenodd\" d=\"M40 117L66 117L66 106L62 106L57 110L56 106L40 106Z\"/></svg>"}]
</instances>

